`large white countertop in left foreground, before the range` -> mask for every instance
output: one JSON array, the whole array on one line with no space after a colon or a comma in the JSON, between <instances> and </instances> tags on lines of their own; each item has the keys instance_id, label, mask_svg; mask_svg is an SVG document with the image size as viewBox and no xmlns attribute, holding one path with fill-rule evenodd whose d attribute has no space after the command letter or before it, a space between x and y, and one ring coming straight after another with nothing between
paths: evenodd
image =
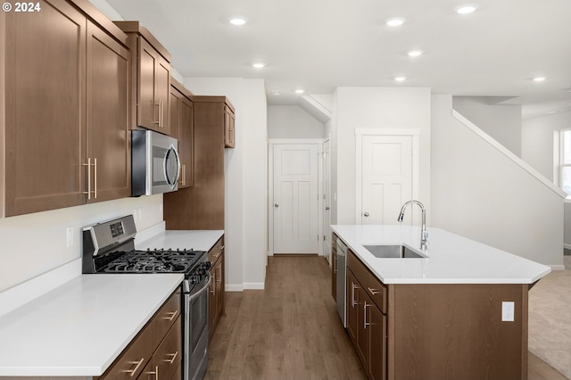
<instances>
[{"instance_id":1,"label":"large white countertop in left foreground, before the range","mask_svg":"<svg viewBox=\"0 0 571 380\"><path fill-rule=\"evenodd\" d=\"M0 318L0 376L100 376L183 279L82 275Z\"/></svg>"}]
</instances>

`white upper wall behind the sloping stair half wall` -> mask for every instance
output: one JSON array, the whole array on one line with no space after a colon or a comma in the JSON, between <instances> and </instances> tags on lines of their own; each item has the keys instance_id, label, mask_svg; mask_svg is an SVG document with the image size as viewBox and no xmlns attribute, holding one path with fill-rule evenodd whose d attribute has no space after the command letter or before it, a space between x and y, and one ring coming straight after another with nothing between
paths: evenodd
<instances>
[{"instance_id":1,"label":"white upper wall behind the sloping stair half wall","mask_svg":"<svg viewBox=\"0 0 571 380\"><path fill-rule=\"evenodd\" d=\"M453 96L452 108L517 156L521 155L521 105L494 104L494 96Z\"/></svg>"}]
</instances>

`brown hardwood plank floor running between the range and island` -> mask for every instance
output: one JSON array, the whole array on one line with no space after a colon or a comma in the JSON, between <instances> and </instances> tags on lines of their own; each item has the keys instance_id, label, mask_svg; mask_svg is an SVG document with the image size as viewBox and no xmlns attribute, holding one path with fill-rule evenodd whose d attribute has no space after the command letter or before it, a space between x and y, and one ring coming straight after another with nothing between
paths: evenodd
<instances>
[{"instance_id":1,"label":"brown hardwood plank floor running between the range and island","mask_svg":"<svg viewBox=\"0 0 571 380\"><path fill-rule=\"evenodd\" d=\"M225 294L204 379L365 379L323 257L269 257L266 289ZM565 379L530 353L528 380Z\"/></svg>"}]
</instances>

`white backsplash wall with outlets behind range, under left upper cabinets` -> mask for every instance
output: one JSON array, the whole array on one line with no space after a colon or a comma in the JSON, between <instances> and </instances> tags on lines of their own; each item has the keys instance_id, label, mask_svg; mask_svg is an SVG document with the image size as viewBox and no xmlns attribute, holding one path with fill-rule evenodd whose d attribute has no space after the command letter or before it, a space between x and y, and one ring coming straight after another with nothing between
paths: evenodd
<instances>
[{"instance_id":1,"label":"white backsplash wall with outlets behind range, under left upper cabinets","mask_svg":"<svg viewBox=\"0 0 571 380\"><path fill-rule=\"evenodd\" d=\"M0 219L0 292L81 258L81 229L133 214L137 231L162 222L162 195L97 202ZM67 247L67 228L73 244ZM79 274L78 274L79 275Z\"/></svg>"}]
</instances>

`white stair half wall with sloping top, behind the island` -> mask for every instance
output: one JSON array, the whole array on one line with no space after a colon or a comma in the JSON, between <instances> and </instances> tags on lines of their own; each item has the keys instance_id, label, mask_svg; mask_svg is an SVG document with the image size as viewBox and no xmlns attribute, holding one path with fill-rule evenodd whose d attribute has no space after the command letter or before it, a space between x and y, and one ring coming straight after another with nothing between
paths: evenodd
<instances>
[{"instance_id":1,"label":"white stair half wall with sloping top, behind the island","mask_svg":"<svg viewBox=\"0 0 571 380\"><path fill-rule=\"evenodd\" d=\"M546 265L563 263L563 199L433 95L432 225Z\"/></svg>"}]
</instances>

